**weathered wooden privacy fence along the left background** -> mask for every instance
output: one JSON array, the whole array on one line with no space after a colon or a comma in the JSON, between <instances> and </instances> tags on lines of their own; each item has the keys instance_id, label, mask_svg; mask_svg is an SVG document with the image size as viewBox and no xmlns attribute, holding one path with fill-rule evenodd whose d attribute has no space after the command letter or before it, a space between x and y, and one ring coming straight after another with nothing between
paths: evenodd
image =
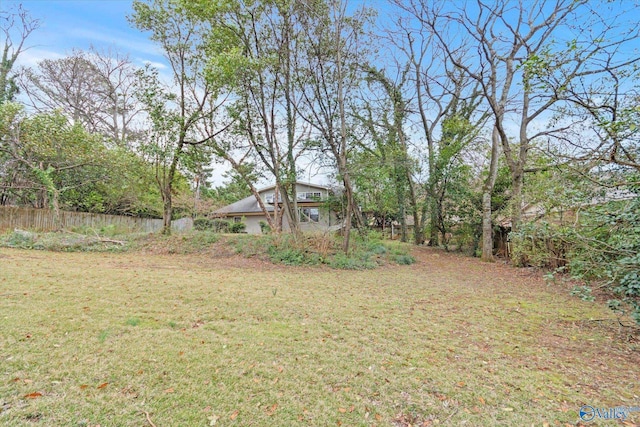
<instances>
[{"instance_id":1,"label":"weathered wooden privacy fence along the left background","mask_svg":"<svg viewBox=\"0 0 640 427\"><path fill-rule=\"evenodd\" d=\"M49 209L0 206L0 231L16 228L52 231L56 229L54 222L53 211ZM60 224L63 228L100 228L105 225L115 225L128 231L147 233L162 229L161 219L68 211L60 211ZM173 231L188 231L192 228L193 220L191 218L182 218L171 222Z\"/></svg>"}]
</instances>

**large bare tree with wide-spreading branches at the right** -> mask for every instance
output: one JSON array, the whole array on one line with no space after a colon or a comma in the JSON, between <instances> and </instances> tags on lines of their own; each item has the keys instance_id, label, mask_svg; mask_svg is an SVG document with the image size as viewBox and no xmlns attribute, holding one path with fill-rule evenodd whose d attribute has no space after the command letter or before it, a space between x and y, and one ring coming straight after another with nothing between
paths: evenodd
<instances>
[{"instance_id":1,"label":"large bare tree with wide-spreading branches at the right","mask_svg":"<svg viewBox=\"0 0 640 427\"><path fill-rule=\"evenodd\" d=\"M602 75L620 62L628 63L628 58L619 58L616 63L610 54L636 40L638 30L626 28L622 37L617 36L621 30L591 13L590 3L584 0L540 0L534 4L480 0L476 7L473 14L463 8L430 7L430 18L423 22L438 36L456 66L484 92L511 172L511 224L517 230L529 151L536 140L555 138L567 127L559 123L541 129L539 119L552 113L572 82ZM447 24L462 31L475 46L473 58L460 58L457 45L443 30ZM577 35L573 37L574 28L587 27L600 32L585 43L579 42ZM603 56L613 62L603 62ZM541 76L549 75L556 77L555 86L540 84L545 80ZM513 138L508 130L510 121L517 128Z\"/></svg>"}]
</instances>

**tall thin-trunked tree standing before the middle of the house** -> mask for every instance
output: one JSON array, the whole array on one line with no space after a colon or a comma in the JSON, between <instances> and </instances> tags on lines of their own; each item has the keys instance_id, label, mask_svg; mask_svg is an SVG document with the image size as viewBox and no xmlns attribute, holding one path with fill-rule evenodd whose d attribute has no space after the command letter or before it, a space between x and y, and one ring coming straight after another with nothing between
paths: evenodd
<instances>
[{"instance_id":1,"label":"tall thin-trunked tree standing before the middle of the house","mask_svg":"<svg viewBox=\"0 0 640 427\"><path fill-rule=\"evenodd\" d=\"M231 109L233 132L251 147L256 163L275 179L275 228L284 215L290 231L300 235L297 207L297 165L306 151L308 126L301 123L295 105L299 90L294 81L293 57L299 54L292 8L276 1L242 7L229 15L246 59L237 75L237 101ZM257 192L254 191L256 198Z\"/></svg>"}]
</instances>

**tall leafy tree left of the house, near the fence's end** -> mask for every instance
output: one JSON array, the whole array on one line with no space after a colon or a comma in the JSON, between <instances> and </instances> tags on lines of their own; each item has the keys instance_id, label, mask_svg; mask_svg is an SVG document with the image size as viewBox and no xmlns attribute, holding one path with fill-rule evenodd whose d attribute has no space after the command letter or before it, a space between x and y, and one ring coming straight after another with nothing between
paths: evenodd
<instances>
[{"instance_id":1,"label":"tall leafy tree left of the house, near the fence's end","mask_svg":"<svg viewBox=\"0 0 640 427\"><path fill-rule=\"evenodd\" d=\"M224 9L220 3L217 12ZM156 179L163 201L163 233L171 233L173 184L188 147L207 144L225 126L202 137L198 127L221 110L228 77L224 58L233 52L234 39L215 20L201 21L172 0L134 1L130 20L163 50L171 83L157 72L140 75L139 95L150 119L145 144L157 162ZM209 12L216 12L209 8ZM217 26L217 27L216 27ZM212 29L221 37L212 40ZM203 55L206 52L207 55Z\"/></svg>"}]
</instances>

